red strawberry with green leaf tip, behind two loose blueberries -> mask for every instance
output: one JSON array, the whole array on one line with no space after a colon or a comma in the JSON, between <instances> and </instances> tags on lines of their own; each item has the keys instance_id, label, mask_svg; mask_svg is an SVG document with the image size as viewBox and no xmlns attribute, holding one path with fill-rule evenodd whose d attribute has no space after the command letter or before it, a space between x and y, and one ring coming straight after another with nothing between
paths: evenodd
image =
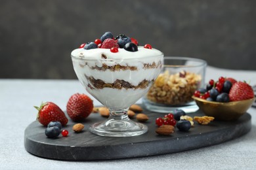
<instances>
[{"instance_id":1,"label":"red strawberry with green leaf tip, behind two loose blueberries","mask_svg":"<svg viewBox=\"0 0 256 170\"><path fill-rule=\"evenodd\" d=\"M64 112L53 102L42 103L40 107L35 107L38 110L37 120L47 126L50 122L58 121L65 126L68 123L68 118Z\"/></svg>"}]
</instances>

